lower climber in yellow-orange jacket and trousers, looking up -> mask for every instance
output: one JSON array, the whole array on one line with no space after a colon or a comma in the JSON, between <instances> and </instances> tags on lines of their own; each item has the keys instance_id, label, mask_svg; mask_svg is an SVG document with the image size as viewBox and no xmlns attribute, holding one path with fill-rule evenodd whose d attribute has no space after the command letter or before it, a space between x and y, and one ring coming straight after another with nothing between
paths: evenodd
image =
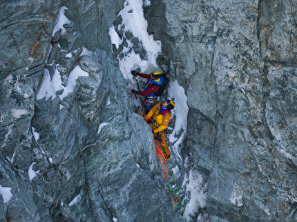
<instances>
[{"instance_id":1,"label":"lower climber in yellow-orange jacket and trousers, looking up","mask_svg":"<svg viewBox=\"0 0 297 222\"><path fill-rule=\"evenodd\" d=\"M166 132L165 129L171 119L171 110L175 108L175 103L172 100L157 103L146 115L146 122L151 126L155 137L162 139L161 145L167 159L170 158L170 150L165 141ZM151 122L149 119L153 120Z\"/></svg>"}]
</instances>

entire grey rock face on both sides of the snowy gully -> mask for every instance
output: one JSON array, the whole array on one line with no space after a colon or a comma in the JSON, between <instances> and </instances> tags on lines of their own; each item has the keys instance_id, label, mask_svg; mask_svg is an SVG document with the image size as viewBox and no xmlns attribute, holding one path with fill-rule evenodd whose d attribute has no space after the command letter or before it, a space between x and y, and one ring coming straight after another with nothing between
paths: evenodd
<instances>
[{"instance_id":1,"label":"entire grey rock face on both sides of the snowy gully","mask_svg":"<svg viewBox=\"0 0 297 222\"><path fill-rule=\"evenodd\" d=\"M0 221L184 220L108 36L123 7L0 4ZM61 10L68 22L53 32ZM297 220L296 14L289 0L146 6L159 65L188 99L181 160L171 158L184 206L191 170L207 188L206 208L187 221ZM70 90L78 66L84 76ZM57 76L60 88L40 96Z\"/></svg>"}]
</instances>

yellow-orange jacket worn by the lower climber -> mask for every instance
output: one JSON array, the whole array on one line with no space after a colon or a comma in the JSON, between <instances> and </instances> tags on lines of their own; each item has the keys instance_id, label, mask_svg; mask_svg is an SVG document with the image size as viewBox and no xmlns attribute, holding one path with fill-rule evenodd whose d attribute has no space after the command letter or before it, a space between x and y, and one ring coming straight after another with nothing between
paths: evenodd
<instances>
[{"instance_id":1,"label":"yellow-orange jacket worn by the lower climber","mask_svg":"<svg viewBox=\"0 0 297 222\"><path fill-rule=\"evenodd\" d=\"M146 120L148 118L155 120L156 129L153 130L154 133L161 132L167 128L167 125L171 119L171 112L167 112L164 117L160 113L161 103L157 103L154 107L148 112Z\"/></svg>"}]
</instances>

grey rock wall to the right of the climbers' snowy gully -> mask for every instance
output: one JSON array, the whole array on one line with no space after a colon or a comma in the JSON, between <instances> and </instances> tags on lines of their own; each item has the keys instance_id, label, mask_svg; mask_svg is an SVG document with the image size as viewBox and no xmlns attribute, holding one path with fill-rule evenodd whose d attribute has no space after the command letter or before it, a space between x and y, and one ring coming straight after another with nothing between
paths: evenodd
<instances>
[{"instance_id":1,"label":"grey rock wall to the right of the climbers' snowy gully","mask_svg":"<svg viewBox=\"0 0 297 222\"><path fill-rule=\"evenodd\" d=\"M296 1L162 3L209 221L295 221Z\"/></svg>"}]
</instances>

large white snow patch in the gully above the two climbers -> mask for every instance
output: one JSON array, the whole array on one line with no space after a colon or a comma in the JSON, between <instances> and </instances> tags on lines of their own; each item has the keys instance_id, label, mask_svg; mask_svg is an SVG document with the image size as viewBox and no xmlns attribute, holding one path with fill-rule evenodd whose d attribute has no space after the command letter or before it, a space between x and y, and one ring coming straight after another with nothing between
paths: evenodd
<instances>
[{"instance_id":1,"label":"large white snow patch in the gully above the two climbers","mask_svg":"<svg viewBox=\"0 0 297 222\"><path fill-rule=\"evenodd\" d=\"M132 80L133 76L130 74L130 71L135 68L140 68L142 72L146 73L157 69L156 58L161 52L161 41L155 41L153 35L149 35L146 31L147 21L144 19L143 6L148 5L150 5L150 1L145 1L143 3L139 0L126 0L124 9L118 14L118 16L122 17L123 21L122 25L119 25L117 29L124 30L124 33L127 31L132 32L133 36L137 37L139 41L142 42L142 46L144 50L146 50L146 55L148 57L147 60L142 60L139 54L135 54L131 41L126 39L128 45L124 46L121 52L124 54L124 57L118 57L119 68L125 79L128 78ZM119 38L119 35L113 26L108 28L108 34L111 38L111 43L115 44L118 48L123 40ZM132 50L132 52L128 53L130 50Z\"/></svg>"}]
</instances>

